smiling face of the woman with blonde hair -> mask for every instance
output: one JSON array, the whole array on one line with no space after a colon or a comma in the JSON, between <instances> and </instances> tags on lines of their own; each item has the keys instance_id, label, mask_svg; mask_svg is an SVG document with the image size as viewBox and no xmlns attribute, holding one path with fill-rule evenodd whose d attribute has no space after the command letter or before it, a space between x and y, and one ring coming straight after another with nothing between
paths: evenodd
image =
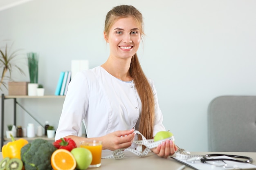
<instances>
[{"instance_id":1,"label":"smiling face of the woman with blonde hair","mask_svg":"<svg viewBox=\"0 0 256 170\"><path fill-rule=\"evenodd\" d=\"M141 33L134 18L120 18L110 28L104 38L110 46L110 56L118 58L130 58L139 49Z\"/></svg>"}]
</instances>

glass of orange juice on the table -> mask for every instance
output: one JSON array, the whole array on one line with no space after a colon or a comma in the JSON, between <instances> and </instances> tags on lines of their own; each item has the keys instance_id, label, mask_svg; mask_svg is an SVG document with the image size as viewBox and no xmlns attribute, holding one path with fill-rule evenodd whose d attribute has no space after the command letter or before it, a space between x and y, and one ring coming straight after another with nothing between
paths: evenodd
<instances>
[{"instance_id":1,"label":"glass of orange juice on the table","mask_svg":"<svg viewBox=\"0 0 256 170\"><path fill-rule=\"evenodd\" d=\"M86 148L92 152L92 163L89 168L96 168L101 166L101 151L102 141L85 140L80 142L81 148Z\"/></svg>"}]
</instances>

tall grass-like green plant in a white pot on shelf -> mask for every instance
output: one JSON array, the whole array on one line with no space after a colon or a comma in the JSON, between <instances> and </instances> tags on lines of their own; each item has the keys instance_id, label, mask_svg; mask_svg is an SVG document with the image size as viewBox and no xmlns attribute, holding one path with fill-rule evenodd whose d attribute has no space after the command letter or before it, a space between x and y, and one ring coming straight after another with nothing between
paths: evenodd
<instances>
[{"instance_id":1,"label":"tall grass-like green plant in a white pot on shelf","mask_svg":"<svg viewBox=\"0 0 256 170\"><path fill-rule=\"evenodd\" d=\"M38 87L38 56L36 53L27 53L27 59L30 79L30 82L27 85L28 95L36 96L36 89Z\"/></svg>"}]
</instances>

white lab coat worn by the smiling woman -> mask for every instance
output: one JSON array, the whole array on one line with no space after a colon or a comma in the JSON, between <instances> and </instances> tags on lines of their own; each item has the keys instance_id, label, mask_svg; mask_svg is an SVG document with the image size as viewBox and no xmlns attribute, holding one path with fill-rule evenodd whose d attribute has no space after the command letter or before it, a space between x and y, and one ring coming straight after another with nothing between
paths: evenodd
<instances>
[{"instance_id":1,"label":"white lab coat worn by the smiling woman","mask_svg":"<svg viewBox=\"0 0 256 170\"><path fill-rule=\"evenodd\" d=\"M155 135L165 130L157 92L149 79L155 99ZM101 66L76 73L68 86L55 139L78 135L83 119L88 137L100 137L117 130L139 127L141 100L133 82L123 82Z\"/></svg>"}]
</instances>

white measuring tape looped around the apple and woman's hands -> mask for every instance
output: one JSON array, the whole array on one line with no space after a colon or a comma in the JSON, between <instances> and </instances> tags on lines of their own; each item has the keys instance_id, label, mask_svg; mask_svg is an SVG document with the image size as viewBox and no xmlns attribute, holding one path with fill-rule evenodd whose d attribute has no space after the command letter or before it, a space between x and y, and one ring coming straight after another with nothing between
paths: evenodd
<instances>
[{"instance_id":1,"label":"white measuring tape looped around the apple and woman's hands","mask_svg":"<svg viewBox=\"0 0 256 170\"><path fill-rule=\"evenodd\" d=\"M148 155L148 152L150 151L150 149L157 147L159 144L162 144L163 141L165 141L166 139L169 139L171 141L174 141L174 137L169 137L160 141L154 141L154 139L146 139L139 131L135 130L134 133L141 135L142 140L140 141L133 141L135 144L139 144L139 145L144 145L146 146L146 148L144 149L143 152L140 152L138 150L135 149L130 149L130 148L126 148L126 149L117 149L115 151L112 152L112 155L106 156L106 157L102 157L102 159L122 159L125 154L124 151L130 151L132 153L134 153L135 155L139 156L139 157L143 157ZM179 151L179 150L178 150Z\"/></svg>"}]
</instances>

